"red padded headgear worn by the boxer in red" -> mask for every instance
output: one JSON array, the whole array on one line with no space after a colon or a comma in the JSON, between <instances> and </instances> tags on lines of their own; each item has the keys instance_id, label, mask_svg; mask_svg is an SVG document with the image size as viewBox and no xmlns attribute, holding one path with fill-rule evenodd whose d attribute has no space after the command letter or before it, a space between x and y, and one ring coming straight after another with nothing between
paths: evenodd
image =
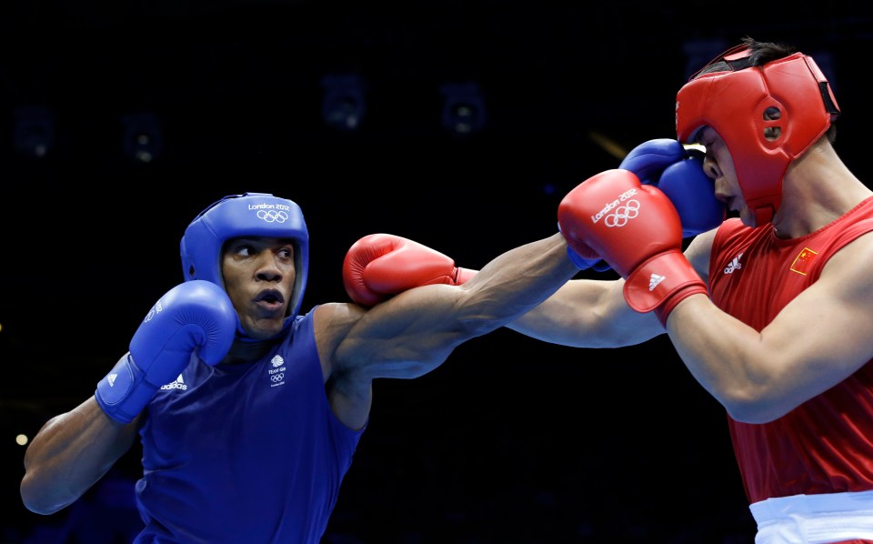
<instances>
[{"instance_id":1,"label":"red padded headgear worn by the boxer in red","mask_svg":"<svg viewBox=\"0 0 873 544\"><path fill-rule=\"evenodd\" d=\"M761 226L773 220L782 203L788 164L828 131L839 108L811 56L795 53L753 66L751 53L745 45L736 46L679 89L676 133L680 142L691 144L701 128L710 126L725 140L743 198ZM719 61L728 69L701 75ZM765 134L766 129L778 130Z\"/></svg>"}]
</instances>

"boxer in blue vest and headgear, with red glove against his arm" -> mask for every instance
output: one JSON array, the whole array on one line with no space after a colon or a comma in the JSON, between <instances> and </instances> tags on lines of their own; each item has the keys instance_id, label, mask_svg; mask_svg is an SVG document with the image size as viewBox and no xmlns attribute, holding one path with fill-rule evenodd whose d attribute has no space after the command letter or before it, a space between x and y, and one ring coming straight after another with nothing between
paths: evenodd
<instances>
[{"instance_id":1,"label":"boxer in blue vest and headgear, with red glove against his arm","mask_svg":"<svg viewBox=\"0 0 873 544\"><path fill-rule=\"evenodd\" d=\"M138 437L137 543L317 544L365 431L373 380L438 368L577 273L560 234L472 279L412 240L371 235L343 270L362 304L301 315L308 254L291 200L246 193L207 207L182 237L185 281L147 313L94 396L27 448L25 506L64 509Z\"/></svg>"}]
</instances>

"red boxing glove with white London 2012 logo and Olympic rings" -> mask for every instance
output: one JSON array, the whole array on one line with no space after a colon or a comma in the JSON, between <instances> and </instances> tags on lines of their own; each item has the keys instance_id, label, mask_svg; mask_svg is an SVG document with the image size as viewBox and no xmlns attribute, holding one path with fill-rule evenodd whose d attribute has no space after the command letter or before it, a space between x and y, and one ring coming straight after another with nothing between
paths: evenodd
<instances>
[{"instance_id":1,"label":"red boxing glove with white London 2012 logo and Olympic rings","mask_svg":"<svg viewBox=\"0 0 873 544\"><path fill-rule=\"evenodd\" d=\"M655 310L661 323L676 305L707 286L682 255L682 224L676 207L635 174L607 170L567 193L557 212L570 247L587 245L626 279L628 306Z\"/></svg>"}]
</instances>

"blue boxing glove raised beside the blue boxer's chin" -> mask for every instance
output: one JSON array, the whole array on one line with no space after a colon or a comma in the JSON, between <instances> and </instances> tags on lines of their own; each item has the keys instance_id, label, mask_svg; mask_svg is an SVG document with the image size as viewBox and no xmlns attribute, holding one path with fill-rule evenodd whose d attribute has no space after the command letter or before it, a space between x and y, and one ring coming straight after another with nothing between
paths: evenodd
<instances>
[{"instance_id":1,"label":"blue boxing glove raised beside the blue boxer's chin","mask_svg":"<svg viewBox=\"0 0 873 544\"><path fill-rule=\"evenodd\" d=\"M236 310L221 287L199 279L173 287L136 329L130 351L97 383L97 404L115 421L130 423L158 388L182 373L192 353L218 364L235 331Z\"/></svg>"}]
</instances>

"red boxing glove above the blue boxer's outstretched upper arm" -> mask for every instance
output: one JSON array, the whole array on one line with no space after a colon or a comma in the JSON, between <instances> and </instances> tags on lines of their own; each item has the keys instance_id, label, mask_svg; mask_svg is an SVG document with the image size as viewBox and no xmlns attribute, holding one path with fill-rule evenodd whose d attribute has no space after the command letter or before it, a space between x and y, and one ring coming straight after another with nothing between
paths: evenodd
<instances>
[{"instance_id":1,"label":"red boxing glove above the blue boxer's outstretched upper arm","mask_svg":"<svg viewBox=\"0 0 873 544\"><path fill-rule=\"evenodd\" d=\"M451 257L390 234L359 239L343 262L346 293L363 306L374 306L412 287L461 285L474 275L473 270L456 267Z\"/></svg>"}]
</instances>

